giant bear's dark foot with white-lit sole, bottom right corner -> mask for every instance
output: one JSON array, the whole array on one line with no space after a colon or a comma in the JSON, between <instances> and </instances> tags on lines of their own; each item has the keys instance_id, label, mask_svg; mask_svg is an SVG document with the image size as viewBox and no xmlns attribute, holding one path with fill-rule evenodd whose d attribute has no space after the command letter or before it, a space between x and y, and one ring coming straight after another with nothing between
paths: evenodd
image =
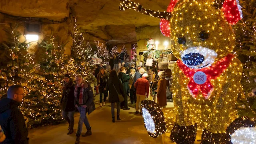
<instances>
[{"instance_id":1,"label":"giant bear's dark foot with white-lit sole, bottom right corner","mask_svg":"<svg viewBox=\"0 0 256 144\"><path fill-rule=\"evenodd\" d=\"M256 122L243 116L234 120L227 128L232 144L256 144Z\"/></svg>"}]
</instances>

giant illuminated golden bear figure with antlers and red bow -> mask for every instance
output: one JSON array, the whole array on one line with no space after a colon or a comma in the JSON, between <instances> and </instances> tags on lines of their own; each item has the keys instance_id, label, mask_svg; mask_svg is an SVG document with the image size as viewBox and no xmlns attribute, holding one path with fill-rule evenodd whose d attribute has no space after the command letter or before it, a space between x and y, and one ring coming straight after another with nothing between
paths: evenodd
<instances>
[{"instance_id":1,"label":"giant illuminated golden bear figure with antlers and red bow","mask_svg":"<svg viewBox=\"0 0 256 144\"><path fill-rule=\"evenodd\" d=\"M242 64L232 54L235 35L231 24L242 18L241 7L237 0L177 2L172 0L167 12L146 10L129 0L120 4L120 10L164 18L161 32L170 37L171 50L178 58L173 72L175 122L170 138L178 144L193 144L196 131L203 130L201 144L238 142L230 135L240 127L255 126L246 117L238 118L235 108L242 93ZM142 106L150 136L164 133L166 124L159 106L150 101Z\"/></svg>"}]
</instances>

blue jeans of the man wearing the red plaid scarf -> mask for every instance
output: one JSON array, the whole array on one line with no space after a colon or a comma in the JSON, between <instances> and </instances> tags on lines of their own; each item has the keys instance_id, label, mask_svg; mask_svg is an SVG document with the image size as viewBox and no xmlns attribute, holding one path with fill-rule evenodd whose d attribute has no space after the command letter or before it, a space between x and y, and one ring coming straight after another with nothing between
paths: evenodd
<instances>
[{"instance_id":1,"label":"blue jeans of the man wearing the red plaid scarf","mask_svg":"<svg viewBox=\"0 0 256 144\"><path fill-rule=\"evenodd\" d=\"M86 113L87 113L87 108L84 108L82 106L78 106L78 111L80 113L80 119L78 122L78 128L77 128L77 132L76 135L79 135L82 133L82 128L83 128L83 123L85 124L87 130L90 129L90 124L89 121L86 117Z\"/></svg>"}]
</instances>

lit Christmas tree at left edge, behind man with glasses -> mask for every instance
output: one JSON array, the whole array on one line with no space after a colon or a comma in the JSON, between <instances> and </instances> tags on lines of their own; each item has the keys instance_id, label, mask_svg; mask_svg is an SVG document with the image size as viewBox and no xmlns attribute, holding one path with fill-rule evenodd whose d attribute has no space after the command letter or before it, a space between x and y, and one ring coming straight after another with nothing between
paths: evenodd
<instances>
[{"instance_id":1,"label":"lit Christmas tree at left edge, behind man with glasses","mask_svg":"<svg viewBox=\"0 0 256 144\"><path fill-rule=\"evenodd\" d=\"M4 29L8 40L0 44L0 98L6 96L8 87L13 84L21 84L28 93L34 78L34 55L26 51L29 43L20 42L22 34L17 29L18 24L10 24L10 28Z\"/></svg>"}]
</instances>

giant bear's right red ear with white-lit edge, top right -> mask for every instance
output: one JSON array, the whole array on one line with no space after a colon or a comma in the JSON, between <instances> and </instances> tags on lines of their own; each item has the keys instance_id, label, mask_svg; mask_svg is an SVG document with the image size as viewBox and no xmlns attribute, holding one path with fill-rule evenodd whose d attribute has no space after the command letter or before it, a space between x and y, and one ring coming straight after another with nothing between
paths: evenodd
<instances>
[{"instance_id":1,"label":"giant bear's right red ear with white-lit edge, top right","mask_svg":"<svg viewBox=\"0 0 256 144\"><path fill-rule=\"evenodd\" d=\"M238 0L224 0L221 10L229 24L236 24L243 18Z\"/></svg>"}]
</instances>

